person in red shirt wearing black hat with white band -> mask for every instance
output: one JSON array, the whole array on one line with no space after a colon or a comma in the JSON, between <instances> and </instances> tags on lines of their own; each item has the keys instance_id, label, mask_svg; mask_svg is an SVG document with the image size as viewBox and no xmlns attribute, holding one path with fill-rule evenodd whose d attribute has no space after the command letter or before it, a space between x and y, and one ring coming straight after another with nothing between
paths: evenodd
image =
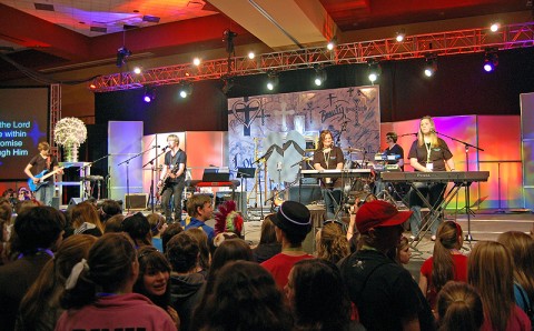
<instances>
[{"instance_id":1,"label":"person in red shirt wearing black hat with white band","mask_svg":"<svg viewBox=\"0 0 534 331\"><path fill-rule=\"evenodd\" d=\"M281 243L281 252L261 263L273 274L280 289L287 284L293 265L305 259L314 259L303 249L303 241L312 230L312 217L306 205L296 201L285 201L273 215L276 239Z\"/></svg>"}]
</instances>

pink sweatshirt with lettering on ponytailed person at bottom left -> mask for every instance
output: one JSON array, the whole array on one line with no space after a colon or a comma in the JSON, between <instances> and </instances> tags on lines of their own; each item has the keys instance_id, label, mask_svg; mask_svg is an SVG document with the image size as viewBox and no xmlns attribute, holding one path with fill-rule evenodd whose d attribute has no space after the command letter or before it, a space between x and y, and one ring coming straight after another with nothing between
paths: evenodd
<instances>
[{"instance_id":1,"label":"pink sweatshirt with lettering on ponytailed person at bottom left","mask_svg":"<svg viewBox=\"0 0 534 331\"><path fill-rule=\"evenodd\" d=\"M176 325L165 310L137 293L98 298L81 309L65 311L56 324L56 331L105 329L176 331Z\"/></svg>"}]
</instances>

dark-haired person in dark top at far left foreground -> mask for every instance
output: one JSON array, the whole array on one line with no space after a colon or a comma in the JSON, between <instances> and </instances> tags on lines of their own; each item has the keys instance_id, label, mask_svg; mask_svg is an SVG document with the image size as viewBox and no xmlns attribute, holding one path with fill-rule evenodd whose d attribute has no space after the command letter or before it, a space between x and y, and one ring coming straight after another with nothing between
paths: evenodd
<instances>
[{"instance_id":1,"label":"dark-haired person in dark top at far left foreground","mask_svg":"<svg viewBox=\"0 0 534 331\"><path fill-rule=\"evenodd\" d=\"M65 218L51 207L33 207L14 220L16 261L0 267L0 325L13 330L17 310L44 264L61 243Z\"/></svg>"}]
</instances>

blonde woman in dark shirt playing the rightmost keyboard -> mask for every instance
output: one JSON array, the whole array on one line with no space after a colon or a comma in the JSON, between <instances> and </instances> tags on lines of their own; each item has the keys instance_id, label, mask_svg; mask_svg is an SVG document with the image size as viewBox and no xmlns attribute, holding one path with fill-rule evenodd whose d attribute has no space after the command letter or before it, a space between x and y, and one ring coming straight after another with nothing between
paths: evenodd
<instances>
[{"instance_id":1,"label":"blonde woman in dark shirt playing the rightmost keyboard","mask_svg":"<svg viewBox=\"0 0 534 331\"><path fill-rule=\"evenodd\" d=\"M447 143L437 137L434 120L431 117L423 117L419 122L417 140L412 143L408 152L409 164L415 171L446 171L447 167L451 171L454 169L453 153L448 149ZM439 205L443 201L446 183L417 182L414 183L419 192L425 195L431 205ZM409 209L414 212L409 218L409 227L412 229L412 239L417 238L419 233L422 217L421 208L423 201L414 189L409 191ZM432 240L436 240L437 227L443 220L438 218L431 227Z\"/></svg>"}]
</instances>

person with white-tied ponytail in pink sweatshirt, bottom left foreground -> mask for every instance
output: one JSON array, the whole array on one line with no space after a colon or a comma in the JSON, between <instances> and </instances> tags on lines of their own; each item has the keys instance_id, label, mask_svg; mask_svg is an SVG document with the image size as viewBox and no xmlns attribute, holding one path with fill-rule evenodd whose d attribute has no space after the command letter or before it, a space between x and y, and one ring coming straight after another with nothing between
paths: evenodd
<instances>
[{"instance_id":1,"label":"person with white-tied ponytail in pink sweatshirt, bottom left foreground","mask_svg":"<svg viewBox=\"0 0 534 331\"><path fill-rule=\"evenodd\" d=\"M177 330L165 310L132 293L139 275L134 242L125 233L107 233L75 264L61 297L62 330Z\"/></svg>"}]
</instances>

